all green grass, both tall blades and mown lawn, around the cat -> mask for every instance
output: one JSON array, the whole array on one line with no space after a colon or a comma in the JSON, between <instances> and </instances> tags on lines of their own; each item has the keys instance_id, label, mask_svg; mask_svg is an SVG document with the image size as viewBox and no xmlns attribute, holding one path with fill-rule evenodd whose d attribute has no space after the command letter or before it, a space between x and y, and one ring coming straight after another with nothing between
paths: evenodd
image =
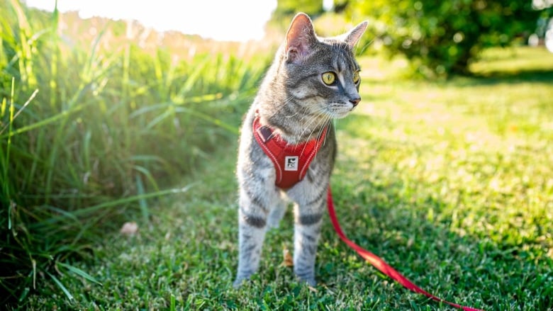
<instances>
[{"instance_id":1,"label":"all green grass, both tall blades and mown lawn, around the cat","mask_svg":"<svg viewBox=\"0 0 553 311\"><path fill-rule=\"evenodd\" d=\"M67 38L57 13L0 7L0 308L445 308L365 264L328 220L320 285L297 283L282 264L291 215L232 288L237 132L264 52L179 58L123 23ZM434 82L401 79L403 60L361 62L333 176L348 236L447 300L551 310L553 55L488 50L474 77ZM138 235L118 233L125 221Z\"/></svg>"}]
</instances>

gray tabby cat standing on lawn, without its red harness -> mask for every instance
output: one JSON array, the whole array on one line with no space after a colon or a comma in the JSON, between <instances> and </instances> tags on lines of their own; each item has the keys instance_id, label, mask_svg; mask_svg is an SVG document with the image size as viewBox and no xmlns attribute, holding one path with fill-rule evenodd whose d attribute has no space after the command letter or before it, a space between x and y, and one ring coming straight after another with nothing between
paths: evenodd
<instances>
[{"instance_id":1,"label":"gray tabby cat standing on lawn, without its red harness","mask_svg":"<svg viewBox=\"0 0 553 311\"><path fill-rule=\"evenodd\" d=\"M265 230L279 226L287 200L295 203L294 273L315 285L315 255L336 154L332 120L345 117L361 100L352 49L366 28L363 22L339 37L318 38L306 14L298 13L291 22L242 125L236 288L257 271ZM295 186L275 185L275 166L254 138L256 118L290 145L316 139L328 129L305 178Z\"/></svg>"}]
</instances>

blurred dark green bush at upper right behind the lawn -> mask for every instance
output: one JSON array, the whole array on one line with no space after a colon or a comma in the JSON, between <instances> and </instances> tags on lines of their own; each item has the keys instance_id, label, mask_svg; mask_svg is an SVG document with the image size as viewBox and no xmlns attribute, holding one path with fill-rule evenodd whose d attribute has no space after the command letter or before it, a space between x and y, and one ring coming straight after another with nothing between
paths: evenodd
<instances>
[{"instance_id":1,"label":"blurred dark green bush at upper right behind the lawn","mask_svg":"<svg viewBox=\"0 0 553 311\"><path fill-rule=\"evenodd\" d=\"M349 9L369 18L374 44L427 77L467 74L483 48L524 41L540 16L527 0L357 1Z\"/></svg>"}]
</instances>

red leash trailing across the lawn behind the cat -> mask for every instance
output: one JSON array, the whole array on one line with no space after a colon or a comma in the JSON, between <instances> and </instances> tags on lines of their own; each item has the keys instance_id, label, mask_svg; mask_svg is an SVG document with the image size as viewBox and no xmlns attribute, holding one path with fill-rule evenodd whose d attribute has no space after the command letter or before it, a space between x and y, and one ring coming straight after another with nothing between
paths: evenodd
<instances>
[{"instance_id":1,"label":"red leash trailing across the lawn behind the cat","mask_svg":"<svg viewBox=\"0 0 553 311\"><path fill-rule=\"evenodd\" d=\"M372 252L367 251L362 247L359 247L359 245L352 242L350 239L348 239L345 236L344 232L342 232L342 228L340 228L340 224L338 223L336 213L334 210L333 195L330 192L330 186L328 187L327 200L328 200L328 214L330 215L330 220L333 222L334 230L336 231L340 239L342 239L342 241L344 241L352 249L357 251L357 254L361 255L366 261L372 264L375 268L379 269L382 273L386 274L386 276L389 276L390 278L397 281L401 285L405 286L409 290L412 290L415 293L423 294L428 298L431 298L432 300L436 300L438 302L444 302L444 303L447 303L447 305L451 305L453 307L457 307L458 309L462 309L465 311L482 311L480 309L475 309L473 307L464 307L462 305L457 305L457 303L449 302L449 301L443 300L442 298L437 298L435 295L432 295L431 293L428 293L427 291L413 284L413 282L409 281L408 278L406 278L401 273L396 271L396 269L392 268L389 264L386 264L386 262L380 259L379 256L372 254Z\"/></svg>"}]
</instances>

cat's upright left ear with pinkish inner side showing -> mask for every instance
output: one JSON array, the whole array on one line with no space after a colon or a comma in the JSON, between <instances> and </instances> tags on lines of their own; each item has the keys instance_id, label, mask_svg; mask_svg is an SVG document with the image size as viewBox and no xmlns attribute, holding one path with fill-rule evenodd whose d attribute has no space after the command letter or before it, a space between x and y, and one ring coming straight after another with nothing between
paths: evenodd
<instances>
[{"instance_id":1,"label":"cat's upright left ear with pinkish inner side showing","mask_svg":"<svg viewBox=\"0 0 553 311\"><path fill-rule=\"evenodd\" d=\"M286 60L296 62L306 57L316 41L311 18L306 13L298 13L286 33Z\"/></svg>"}]
</instances>

